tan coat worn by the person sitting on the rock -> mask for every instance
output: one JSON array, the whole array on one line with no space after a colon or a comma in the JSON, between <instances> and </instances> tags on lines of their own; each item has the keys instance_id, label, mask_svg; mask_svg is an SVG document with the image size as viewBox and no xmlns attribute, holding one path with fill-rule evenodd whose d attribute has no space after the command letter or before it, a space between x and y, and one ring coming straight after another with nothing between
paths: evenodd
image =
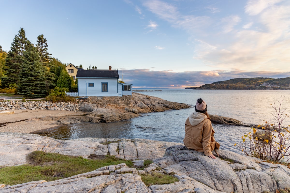
<instances>
[{"instance_id":1,"label":"tan coat worn by the person sitting on the rock","mask_svg":"<svg viewBox=\"0 0 290 193\"><path fill-rule=\"evenodd\" d=\"M209 118L204 119L196 126L192 126L189 118L187 118L185 121L184 145L189 149L204 152L206 156L213 155L211 151L220 148L220 144L213 137L214 133Z\"/></svg>"}]
</instances>

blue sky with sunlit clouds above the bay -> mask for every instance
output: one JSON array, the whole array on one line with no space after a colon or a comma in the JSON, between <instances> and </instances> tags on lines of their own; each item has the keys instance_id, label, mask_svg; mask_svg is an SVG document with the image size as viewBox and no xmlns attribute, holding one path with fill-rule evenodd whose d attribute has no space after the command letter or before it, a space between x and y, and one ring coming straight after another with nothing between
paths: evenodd
<instances>
[{"instance_id":1,"label":"blue sky with sunlit clouds above the bay","mask_svg":"<svg viewBox=\"0 0 290 193\"><path fill-rule=\"evenodd\" d=\"M21 27L62 63L119 70L133 88L290 76L289 0L0 0L0 45ZM123 75L122 75L123 74Z\"/></svg>"}]
</instances>

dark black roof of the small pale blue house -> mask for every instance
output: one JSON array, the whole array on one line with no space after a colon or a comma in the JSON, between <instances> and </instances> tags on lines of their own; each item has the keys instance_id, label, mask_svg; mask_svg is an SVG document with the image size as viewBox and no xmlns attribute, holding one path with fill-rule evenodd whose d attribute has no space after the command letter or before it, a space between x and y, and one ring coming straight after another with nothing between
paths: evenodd
<instances>
[{"instance_id":1,"label":"dark black roof of the small pale blue house","mask_svg":"<svg viewBox=\"0 0 290 193\"><path fill-rule=\"evenodd\" d=\"M119 78L117 70L78 70L76 78Z\"/></svg>"}]
</instances>

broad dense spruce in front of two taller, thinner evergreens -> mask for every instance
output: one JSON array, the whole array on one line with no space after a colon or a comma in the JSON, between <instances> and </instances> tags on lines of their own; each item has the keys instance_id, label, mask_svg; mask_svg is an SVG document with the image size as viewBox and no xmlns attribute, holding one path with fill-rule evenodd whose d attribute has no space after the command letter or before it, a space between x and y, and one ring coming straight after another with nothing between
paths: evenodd
<instances>
[{"instance_id":1,"label":"broad dense spruce in front of two taller, thinner evergreens","mask_svg":"<svg viewBox=\"0 0 290 193\"><path fill-rule=\"evenodd\" d=\"M23 52L20 66L20 78L17 87L18 94L28 98L42 98L46 96L46 69L42 66L37 48L30 45Z\"/></svg>"}]
</instances>

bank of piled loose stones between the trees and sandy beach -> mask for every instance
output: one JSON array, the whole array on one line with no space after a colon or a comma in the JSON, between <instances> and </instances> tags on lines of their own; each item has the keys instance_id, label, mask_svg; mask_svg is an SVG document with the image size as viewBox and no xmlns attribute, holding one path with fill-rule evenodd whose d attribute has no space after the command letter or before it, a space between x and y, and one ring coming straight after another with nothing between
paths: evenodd
<instances>
[{"instance_id":1,"label":"bank of piled loose stones between the trees and sandy beach","mask_svg":"<svg viewBox=\"0 0 290 193\"><path fill-rule=\"evenodd\" d=\"M46 109L59 111L79 111L79 103L71 102L48 102L48 101L3 101L0 102L0 111L14 110L14 109Z\"/></svg>"}]
</instances>

